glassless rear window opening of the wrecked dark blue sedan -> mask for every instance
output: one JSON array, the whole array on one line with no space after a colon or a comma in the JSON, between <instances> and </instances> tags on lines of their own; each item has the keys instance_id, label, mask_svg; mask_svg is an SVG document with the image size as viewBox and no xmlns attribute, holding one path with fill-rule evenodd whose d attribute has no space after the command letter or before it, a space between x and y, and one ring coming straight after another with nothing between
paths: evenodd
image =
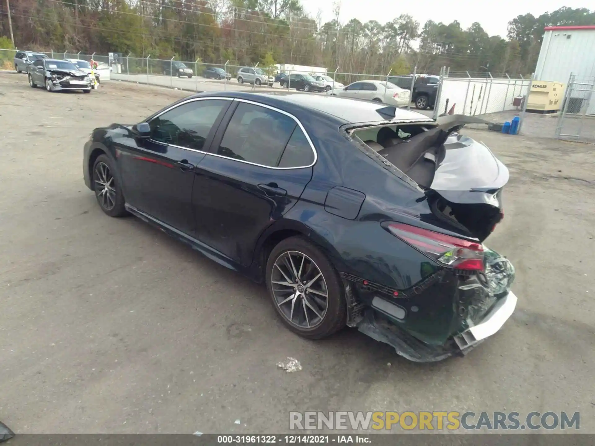
<instances>
[{"instance_id":1,"label":"glassless rear window opening of the wrecked dark blue sedan","mask_svg":"<svg viewBox=\"0 0 595 446\"><path fill-rule=\"evenodd\" d=\"M350 134L424 188L444 157L444 131L427 123L363 127Z\"/></svg>"}]
</instances>

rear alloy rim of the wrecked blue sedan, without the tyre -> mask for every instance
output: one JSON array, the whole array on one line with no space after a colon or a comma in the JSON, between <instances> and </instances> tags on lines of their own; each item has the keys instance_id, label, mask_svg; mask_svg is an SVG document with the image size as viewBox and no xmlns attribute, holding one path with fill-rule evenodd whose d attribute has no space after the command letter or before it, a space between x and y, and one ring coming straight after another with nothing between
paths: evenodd
<instances>
[{"instance_id":1,"label":"rear alloy rim of the wrecked blue sedan, without the tyre","mask_svg":"<svg viewBox=\"0 0 595 446\"><path fill-rule=\"evenodd\" d=\"M298 328L320 325L327 312L328 288L320 268L299 251L277 257L271 273L271 290L281 315Z\"/></svg>"}]
</instances>

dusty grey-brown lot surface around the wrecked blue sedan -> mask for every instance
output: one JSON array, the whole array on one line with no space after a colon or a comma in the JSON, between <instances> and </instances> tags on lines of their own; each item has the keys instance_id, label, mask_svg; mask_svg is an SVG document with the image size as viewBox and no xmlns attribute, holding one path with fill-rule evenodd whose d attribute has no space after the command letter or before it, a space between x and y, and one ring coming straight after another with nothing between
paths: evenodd
<instances>
[{"instance_id":1,"label":"dusty grey-brown lot surface around the wrecked blue sedan","mask_svg":"<svg viewBox=\"0 0 595 446\"><path fill-rule=\"evenodd\" d=\"M101 212L82 178L92 128L187 94L114 81L52 94L0 73L2 422L265 433L287 432L290 410L566 410L595 433L592 146L465 130L511 171L487 244L516 266L518 306L468 356L417 364L350 329L299 338L261 285ZM277 368L287 356L303 370Z\"/></svg>"}]
</instances>

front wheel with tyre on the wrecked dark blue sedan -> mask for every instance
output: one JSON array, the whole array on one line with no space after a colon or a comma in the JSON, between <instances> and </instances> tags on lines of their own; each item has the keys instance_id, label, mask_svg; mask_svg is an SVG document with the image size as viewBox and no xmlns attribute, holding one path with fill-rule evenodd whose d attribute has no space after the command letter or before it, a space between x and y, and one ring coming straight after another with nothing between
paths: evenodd
<instances>
[{"instance_id":1,"label":"front wheel with tyre on the wrecked dark blue sedan","mask_svg":"<svg viewBox=\"0 0 595 446\"><path fill-rule=\"evenodd\" d=\"M102 211L111 217L126 215L124 196L107 155L99 155L93 164L93 187Z\"/></svg>"}]
</instances>

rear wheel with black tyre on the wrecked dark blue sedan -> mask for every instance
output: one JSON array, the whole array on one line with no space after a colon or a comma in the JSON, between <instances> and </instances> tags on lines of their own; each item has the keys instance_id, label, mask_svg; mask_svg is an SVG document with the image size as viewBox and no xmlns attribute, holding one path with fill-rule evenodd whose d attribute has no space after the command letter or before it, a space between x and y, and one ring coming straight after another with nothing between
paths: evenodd
<instances>
[{"instance_id":1,"label":"rear wheel with black tyre on the wrecked dark blue sedan","mask_svg":"<svg viewBox=\"0 0 595 446\"><path fill-rule=\"evenodd\" d=\"M320 339L345 326L347 305L339 274L305 238L286 238L273 248L266 281L277 314L293 332Z\"/></svg>"}]
</instances>

